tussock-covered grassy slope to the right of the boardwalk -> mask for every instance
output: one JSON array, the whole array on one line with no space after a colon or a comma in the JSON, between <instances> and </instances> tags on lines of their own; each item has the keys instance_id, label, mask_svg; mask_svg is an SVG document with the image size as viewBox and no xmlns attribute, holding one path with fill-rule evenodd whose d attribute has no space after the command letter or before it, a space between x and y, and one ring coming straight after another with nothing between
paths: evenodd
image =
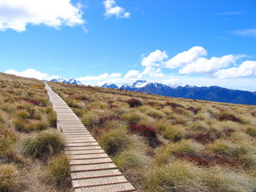
<instances>
[{"instance_id":1,"label":"tussock-covered grassy slope to the right of the boardwalk","mask_svg":"<svg viewBox=\"0 0 256 192\"><path fill-rule=\"evenodd\" d=\"M255 106L50 86L138 190L256 189Z\"/></svg>"}]
</instances>

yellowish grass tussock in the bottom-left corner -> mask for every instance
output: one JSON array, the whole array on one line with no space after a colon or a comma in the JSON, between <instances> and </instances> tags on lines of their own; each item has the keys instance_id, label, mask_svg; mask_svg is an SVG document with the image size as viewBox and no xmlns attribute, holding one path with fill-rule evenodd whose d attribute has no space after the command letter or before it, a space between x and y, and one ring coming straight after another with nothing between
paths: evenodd
<instances>
[{"instance_id":1,"label":"yellowish grass tussock in the bottom-left corner","mask_svg":"<svg viewBox=\"0 0 256 192\"><path fill-rule=\"evenodd\" d=\"M0 191L19 191L20 186L18 168L13 164L0 165Z\"/></svg>"}]
</instances>

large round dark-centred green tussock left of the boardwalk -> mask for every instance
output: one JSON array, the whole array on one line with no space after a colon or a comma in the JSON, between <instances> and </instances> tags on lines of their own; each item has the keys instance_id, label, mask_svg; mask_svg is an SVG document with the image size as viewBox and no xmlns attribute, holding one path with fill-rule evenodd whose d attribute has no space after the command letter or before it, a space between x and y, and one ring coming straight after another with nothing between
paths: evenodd
<instances>
[{"instance_id":1,"label":"large round dark-centred green tussock left of the boardwalk","mask_svg":"<svg viewBox=\"0 0 256 192\"><path fill-rule=\"evenodd\" d=\"M22 153L26 156L45 160L54 154L60 153L64 146L65 143L60 134L42 131L34 137L25 138L22 141Z\"/></svg>"}]
</instances>

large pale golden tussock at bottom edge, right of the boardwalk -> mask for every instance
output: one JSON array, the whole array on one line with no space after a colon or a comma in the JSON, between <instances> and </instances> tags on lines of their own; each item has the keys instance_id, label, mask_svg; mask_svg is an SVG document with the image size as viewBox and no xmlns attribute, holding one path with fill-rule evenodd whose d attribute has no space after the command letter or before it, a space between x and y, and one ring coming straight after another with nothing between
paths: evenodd
<instances>
[{"instance_id":1,"label":"large pale golden tussock at bottom edge, right of the boardwalk","mask_svg":"<svg viewBox=\"0 0 256 192\"><path fill-rule=\"evenodd\" d=\"M206 191L202 184L202 170L190 162L175 160L168 165L146 170L146 191L198 192Z\"/></svg>"}]
</instances>

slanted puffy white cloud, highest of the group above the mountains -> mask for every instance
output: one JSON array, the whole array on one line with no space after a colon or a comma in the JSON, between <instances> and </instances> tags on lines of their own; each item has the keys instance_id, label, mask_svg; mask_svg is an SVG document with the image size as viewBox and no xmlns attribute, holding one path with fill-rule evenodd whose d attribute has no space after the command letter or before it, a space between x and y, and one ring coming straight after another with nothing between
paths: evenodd
<instances>
[{"instance_id":1,"label":"slanted puffy white cloud, highest of the group above the mountains","mask_svg":"<svg viewBox=\"0 0 256 192\"><path fill-rule=\"evenodd\" d=\"M166 62L166 67L169 69L174 69L182 66L186 66L191 62L195 62L198 58L206 56L207 51L202 48L202 46L194 46L190 50L184 51L177 54L174 58L170 58Z\"/></svg>"}]
</instances>

